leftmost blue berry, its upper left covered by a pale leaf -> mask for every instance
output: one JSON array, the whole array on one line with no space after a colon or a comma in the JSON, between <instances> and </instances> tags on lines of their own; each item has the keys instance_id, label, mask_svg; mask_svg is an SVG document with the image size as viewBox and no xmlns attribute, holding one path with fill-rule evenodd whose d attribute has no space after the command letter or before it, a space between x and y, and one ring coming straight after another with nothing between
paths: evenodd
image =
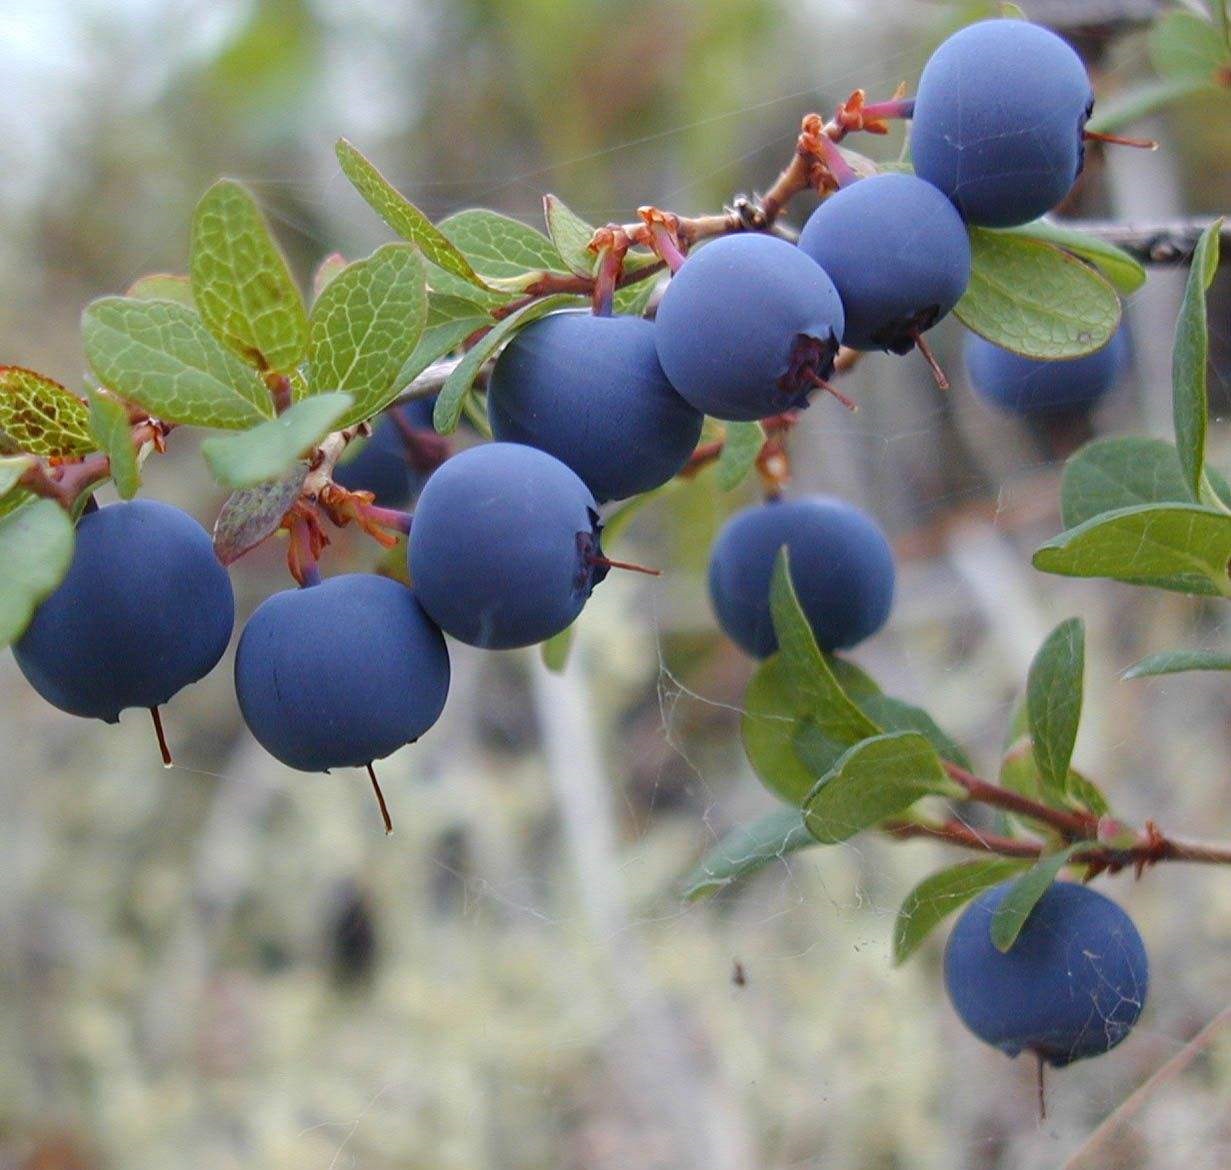
<instances>
[{"instance_id":1,"label":"leftmost blue berry, its upper left covered by a pale leaf","mask_svg":"<svg viewBox=\"0 0 1231 1170\"><path fill-rule=\"evenodd\" d=\"M132 500L81 517L68 575L14 656L49 703L114 723L209 674L234 623L206 530L170 504Z\"/></svg>"}]
</instances>

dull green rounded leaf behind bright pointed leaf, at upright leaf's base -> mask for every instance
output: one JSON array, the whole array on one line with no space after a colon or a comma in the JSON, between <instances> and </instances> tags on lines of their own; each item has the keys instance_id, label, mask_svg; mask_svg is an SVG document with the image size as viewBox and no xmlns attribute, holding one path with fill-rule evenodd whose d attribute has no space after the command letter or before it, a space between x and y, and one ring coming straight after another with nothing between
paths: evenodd
<instances>
[{"instance_id":1,"label":"dull green rounded leaf behind bright pointed leaf, at upright leaf's base","mask_svg":"<svg viewBox=\"0 0 1231 1170\"><path fill-rule=\"evenodd\" d=\"M1231 500L1222 477L1211 470L1209 478L1220 496ZM1069 528L1121 507L1190 502L1179 454L1163 438L1096 438L1065 464L1060 512Z\"/></svg>"}]
</instances>

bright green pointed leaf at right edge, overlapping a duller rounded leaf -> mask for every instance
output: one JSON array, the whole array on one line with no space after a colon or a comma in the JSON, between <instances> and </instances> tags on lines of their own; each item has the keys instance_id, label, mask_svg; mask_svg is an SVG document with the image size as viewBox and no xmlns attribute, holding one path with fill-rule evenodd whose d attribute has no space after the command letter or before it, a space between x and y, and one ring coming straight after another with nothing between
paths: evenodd
<instances>
[{"instance_id":1,"label":"bright green pointed leaf at right edge, overlapping a duller rounded leaf","mask_svg":"<svg viewBox=\"0 0 1231 1170\"><path fill-rule=\"evenodd\" d=\"M1205 597L1231 597L1231 516L1197 504L1121 507L1061 532L1034 567L1061 576L1105 576Z\"/></svg>"}]
</instances>

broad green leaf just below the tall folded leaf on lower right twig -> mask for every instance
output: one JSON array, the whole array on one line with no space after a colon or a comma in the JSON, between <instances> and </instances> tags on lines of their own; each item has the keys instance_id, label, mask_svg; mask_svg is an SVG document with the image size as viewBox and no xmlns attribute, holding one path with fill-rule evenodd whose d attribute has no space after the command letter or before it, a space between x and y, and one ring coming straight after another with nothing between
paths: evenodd
<instances>
[{"instance_id":1,"label":"broad green leaf just below the tall folded leaf on lower right twig","mask_svg":"<svg viewBox=\"0 0 1231 1170\"><path fill-rule=\"evenodd\" d=\"M804 823L822 845L846 841L927 796L963 789L917 732L892 732L849 748L804 798Z\"/></svg>"}]
</instances>

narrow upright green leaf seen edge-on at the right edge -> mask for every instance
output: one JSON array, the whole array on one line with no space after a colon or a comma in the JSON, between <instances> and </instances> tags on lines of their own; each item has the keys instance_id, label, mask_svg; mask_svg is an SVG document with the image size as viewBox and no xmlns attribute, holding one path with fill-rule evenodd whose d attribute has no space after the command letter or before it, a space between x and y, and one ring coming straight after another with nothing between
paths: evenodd
<instances>
[{"instance_id":1,"label":"narrow upright green leaf seen edge-on at the right edge","mask_svg":"<svg viewBox=\"0 0 1231 1170\"><path fill-rule=\"evenodd\" d=\"M1205 291L1219 267L1221 230L1222 220L1216 219L1201 233L1197 251L1193 252L1193 265L1176 321L1176 344L1171 360L1176 450L1179 452L1189 495L1203 504L1215 502L1209 499L1210 488L1205 482L1205 429L1210 413L1206 387L1210 334L1205 317Z\"/></svg>"}]
</instances>

